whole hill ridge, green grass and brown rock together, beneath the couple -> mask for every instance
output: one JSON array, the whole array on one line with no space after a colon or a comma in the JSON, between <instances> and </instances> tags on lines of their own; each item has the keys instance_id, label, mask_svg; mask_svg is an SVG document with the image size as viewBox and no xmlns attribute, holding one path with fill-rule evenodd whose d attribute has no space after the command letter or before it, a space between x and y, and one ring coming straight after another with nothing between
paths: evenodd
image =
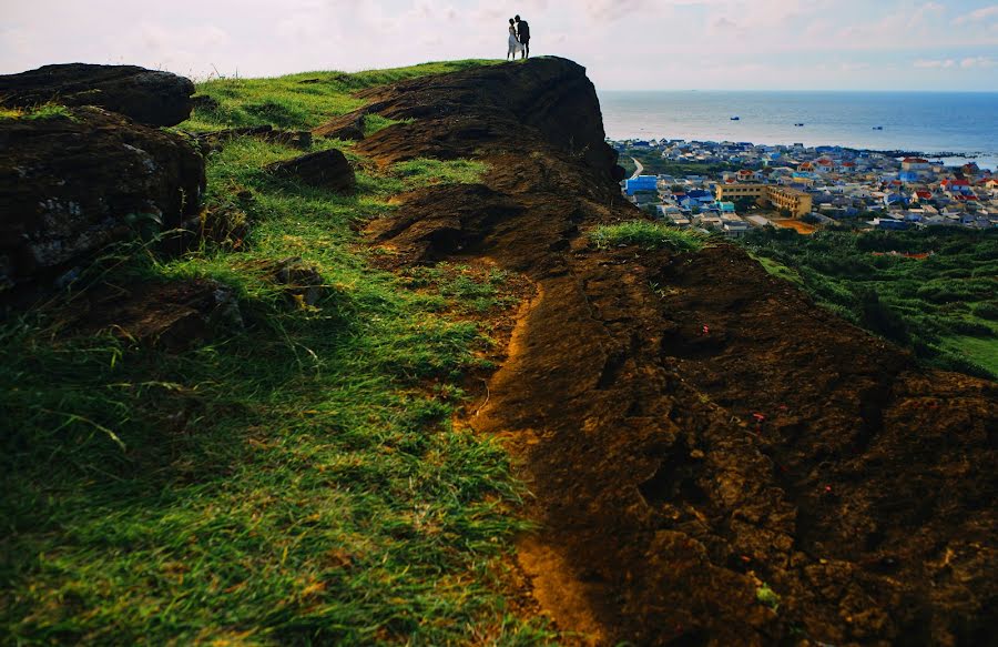
<instances>
[{"instance_id":1,"label":"whole hill ridge, green grass and brown rock together, beneath the couple","mask_svg":"<svg viewBox=\"0 0 998 647\"><path fill-rule=\"evenodd\" d=\"M594 245L599 228L645 216L620 195L585 70L558 58L464 68L355 88L332 73L281 80L301 103L251 97L253 82L207 85L201 114L195 97L187 128L208 124L220 146L201 149L206 251L173 263L143 247L130 273L70 302L103 326L106 346L89 355L62 345L79 341L72 307L47 306L55 324L38 337L8 334L7 378L30 388L6 408L31 411L8 478L32 485L6 503L20 519L11 554L34 556L6 570L20 586L18 630L142 635L144 620L101 597L134 570L141 590L129 594L167 616L180 605L208 621L198 614L231 614L228 598L277 600L224 626L157 625L192 639L986 644L998 620L998 385L920 367L735 246ZM319 94L332 87L355 92ZM330 113L308 104L298 117L310 100ZM309 145L349 162L356 193L272 176L301 151L253 132L256 119L313 129ZM220 134L223 120L251 130ZM344 124L363 137L323 138ZM459 281L440 287L448 273ZM173 296L155 302L164 285L215 295L197 334L167 322L180 343L165 351L130 327L176 310ZM82 368L57 371L64 356L100 388ZM69 386L35 403L49 382ZM74 400L92 393L118 400ZM70 405L81 410L59 426ZM53 445L49 429L77 424L89 435ZM74 453L105 432L122 452ZM529 495L505 481L493 441ZM69 476L51 492L55 469ZM532 527L511 523L513 509ZM146 516L142 528L102 525ZM166 538L149 529L174 526ZM500 578L509 615L549 617L557 637L467 619L479 617L467 598L491 590L466 595L468 573L496 544L516 546ZM113 563L118 582L91 573L89 589L81 555L170 562ZM37 584L45 577L57 584ZM207 584L191 593L192 582Z\"/></svg>"}]
</instances>

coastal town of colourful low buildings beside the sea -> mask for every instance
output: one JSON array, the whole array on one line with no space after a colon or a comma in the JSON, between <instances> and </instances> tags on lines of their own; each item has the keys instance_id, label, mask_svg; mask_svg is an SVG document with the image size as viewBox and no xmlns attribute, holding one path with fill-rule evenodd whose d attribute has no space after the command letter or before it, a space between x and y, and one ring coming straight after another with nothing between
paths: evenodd
<instances>
[{"instance_id":1,"label":"coastal town of colourful low buildings beside the sea","mask_svg":"<svg viewBox=\"0 0 998 647\"><path fill-rule=\"evenodd\" d=\"M946 166L917 154L800 143L608 143L637 166L621 181L627 199L679 228L733 237L767 225L804 234L836 224L998 228L998 174L972 162Z\"/></svg>"}]
</instances>

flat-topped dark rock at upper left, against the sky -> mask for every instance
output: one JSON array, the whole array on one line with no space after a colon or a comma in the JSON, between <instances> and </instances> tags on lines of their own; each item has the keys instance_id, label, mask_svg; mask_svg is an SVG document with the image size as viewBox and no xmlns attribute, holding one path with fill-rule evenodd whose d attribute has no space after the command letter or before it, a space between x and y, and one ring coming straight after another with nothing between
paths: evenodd
<instances>
[{"instance_id":1,"label":"flat-topped dark rock at upper left, against the sky","mask_svg":"<svg viewBox=\"0 0 998 647\"><path fill-rule=\"evenodd\" d=\"M176 125L191 117L194 83L135 65L68 63L0 75L0 103L95 105L150 125Z\"/></svg>"}]
</instances>

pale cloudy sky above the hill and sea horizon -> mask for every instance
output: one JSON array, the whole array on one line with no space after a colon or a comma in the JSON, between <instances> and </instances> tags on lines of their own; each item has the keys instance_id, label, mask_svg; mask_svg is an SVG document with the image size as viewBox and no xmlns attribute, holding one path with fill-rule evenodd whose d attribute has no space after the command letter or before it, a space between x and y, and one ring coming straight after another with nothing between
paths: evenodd
<instances>
[{"instance_id":1,"label":"pale cloudy sky above the hill and sea horizon","mask_svg":"<svg viewBox=\"0 0 998 647\"><path fill-rule=\"evenodd\" d=\"M998 91L996 0L0 0L0 73L129 63L203 80L531 54L600 90Z\"/></svg>"}]
</instances>

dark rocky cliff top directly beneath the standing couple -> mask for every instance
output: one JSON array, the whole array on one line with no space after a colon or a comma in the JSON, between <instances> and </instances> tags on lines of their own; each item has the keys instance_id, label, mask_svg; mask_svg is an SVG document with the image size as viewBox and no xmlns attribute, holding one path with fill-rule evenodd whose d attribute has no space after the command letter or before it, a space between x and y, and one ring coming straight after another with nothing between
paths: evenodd
<instances>
[{"instance_id":1,"label":"dark rocky cliff top directly beneath the standing couple","mask_svg":"<svg viewBox=\"0 0 998 647\"><path fill-rule=\"evenodd\" d=\"M488 65L424 77L358 97L370 103L354 114L414 120L363 142L361 150L385 160L454 159L486 148L527 154L554 146L608 181L617 162L585 69L564 59L534 59L516 71Z\"/></svg>"}]
</instances>

